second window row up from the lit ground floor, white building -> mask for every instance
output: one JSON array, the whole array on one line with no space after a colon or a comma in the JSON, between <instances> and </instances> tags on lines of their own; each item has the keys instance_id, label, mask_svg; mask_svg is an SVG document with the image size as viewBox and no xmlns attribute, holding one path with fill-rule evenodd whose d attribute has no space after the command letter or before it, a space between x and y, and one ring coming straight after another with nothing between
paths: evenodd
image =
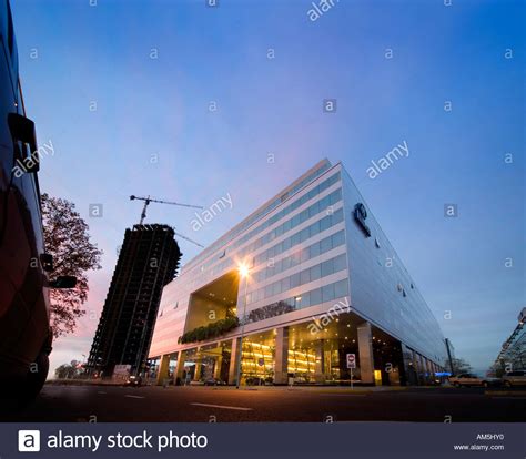
<instances>
[{"instance_id":1,"label":"second window row up from the lit ground floor, white building","mask_svg":"<svg viewBox=\"0 0 526 459\"><path fill-rule=\"evenodd\" d=\"M292 276L269 284L265 287L257 288L256 290L253 290L246 295L246 302L250 304L261 299L270 298L271 296L287 292L291 288L295 288L300 285L308 284L310 282L330 276L331 274L337 273L342 269L345 269L346 267L347 261L346 254L344 253L335 256L334 258L327 259L323 263L293 274Z\"/></svg>"}]
</instances>

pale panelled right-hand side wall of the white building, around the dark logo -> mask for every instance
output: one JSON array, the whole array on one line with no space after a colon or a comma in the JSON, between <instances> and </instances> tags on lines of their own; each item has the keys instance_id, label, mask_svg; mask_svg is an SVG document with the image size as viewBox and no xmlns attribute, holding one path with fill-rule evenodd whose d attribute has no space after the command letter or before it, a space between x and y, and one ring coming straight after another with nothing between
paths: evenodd
<instances>
[{"instance_id":1,"label":"pale panelled right-hand side wall of the white building, around the dark logo","mask_svg":"<svg viewBox=\"0 0 526 459\"><path fill-rule=\"evenodd\" d=\"M371 237L355 221L364 201L345 170L342 184L353 308L421 355L445 361L441 327L373 213L367 207Z\"/></svg>"}]
</instances>

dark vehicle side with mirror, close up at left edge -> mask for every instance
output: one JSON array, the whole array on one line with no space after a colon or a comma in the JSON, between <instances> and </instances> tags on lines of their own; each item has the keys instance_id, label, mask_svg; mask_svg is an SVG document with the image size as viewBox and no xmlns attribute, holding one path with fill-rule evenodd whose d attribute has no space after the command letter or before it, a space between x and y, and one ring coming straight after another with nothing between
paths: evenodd
<instances>
[{"instance_id":1,"label":"dark vehicle side with mirror, close up at left edge","mask_svg":"<svg viewBox=\"0 0 526 459\"><path fill-rule=\"evenodd\" d=\"M43 150L26 118L8 0L0 0L0 398L27 400L49 370L48 289L74 287L75 279L48 280L53 259L44 249L37 176Z\"/></svg>"}]
</instances>

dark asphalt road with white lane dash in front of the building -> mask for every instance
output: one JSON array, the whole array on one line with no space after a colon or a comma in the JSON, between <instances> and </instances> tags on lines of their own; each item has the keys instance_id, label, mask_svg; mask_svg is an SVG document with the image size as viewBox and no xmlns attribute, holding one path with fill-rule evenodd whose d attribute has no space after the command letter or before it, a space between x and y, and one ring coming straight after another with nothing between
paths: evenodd
<instances>
[{"instance_id":1,"label":"dark asphalt road with white lane dash in front of the building","mask_svg":"<svg viewBox=\"0 0 526 459\"><path fill-rule=\"evenodd\" d=\"M380 390L378 390L380 389ZM525 421L526 390L53 386L11 421Z\"/></svg>"}]
</instances>

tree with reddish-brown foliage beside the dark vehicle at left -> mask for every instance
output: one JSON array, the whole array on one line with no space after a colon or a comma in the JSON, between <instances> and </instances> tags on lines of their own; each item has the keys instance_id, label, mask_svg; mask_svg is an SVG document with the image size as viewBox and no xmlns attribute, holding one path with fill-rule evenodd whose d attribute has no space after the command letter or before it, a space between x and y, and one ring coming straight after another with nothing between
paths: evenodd
<instances>
[{"instance_id":1,"label":"tree with reddish-brown foliage beside the dark vehicle at left","mask_svg":"<svg viewBox=\"0 0 526 459\"><path fill-rule=\"evenodd\" d=\"M77 287L51 289L51 328L57 338L72 333L77 319L85 314L88 276L100 269L102 251L90 242L89 226L74 210L74 204L42 194L42 222L45 252L53 256L53 277L77 276Z\"/></svg>"}]
</instances>

